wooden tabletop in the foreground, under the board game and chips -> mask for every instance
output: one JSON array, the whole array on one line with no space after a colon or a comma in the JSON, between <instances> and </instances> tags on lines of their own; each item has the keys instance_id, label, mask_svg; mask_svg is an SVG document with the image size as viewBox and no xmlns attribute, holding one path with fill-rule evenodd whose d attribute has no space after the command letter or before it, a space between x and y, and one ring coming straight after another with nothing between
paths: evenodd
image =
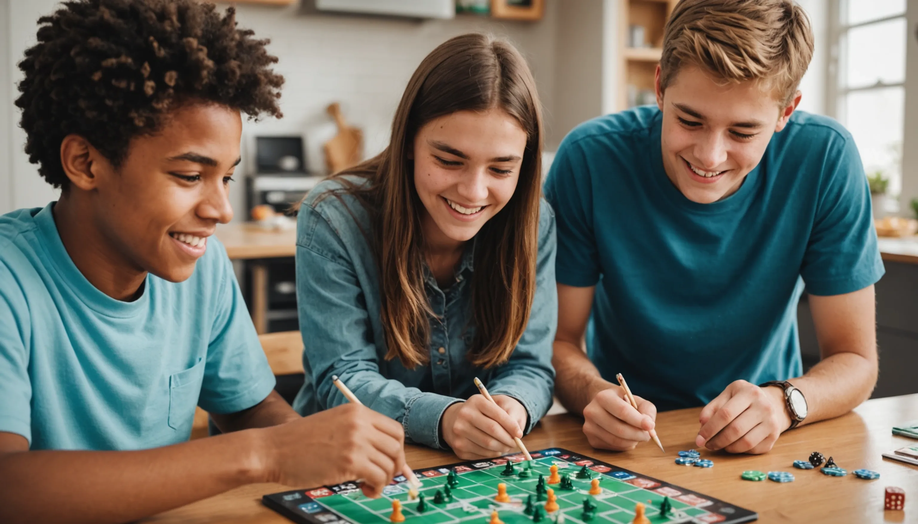
<instances>
[{"instance_id":1,"label":"wooden tabletop in the foreground, under the board game and chips","mask_svg":"<svg viewBox=\"0 0 918 524\"><path fill-rule=\"evenodd\" d=\"M756 511L759 522L918 522L918 466L885 460L880 455L916 443L892 435L890 429L897 423L918 419L918 395L868 400L844 417L788 431L765 455L713 453L714 467L710 469L673 463L677 451L694 447L699 412L700 408L681 409L657 417L657 432L666 447L666 455L653 443L640 445L633 452L594 450L581 431L582 419L566 414L543 418L523 440L533 451L566 448L721 498ZM806 460L814 451L823 452L826 457L832 455L849 474L836 478L817 470L791 467L794 460ZM408 446L406 452L414 468L456 462L449 452L418 446ZM321 460L318 451L316 460ZM881 476L873 481L858 479L850 474L858 468L877 471ZM790 484L748 482L740 479L744 470L790 471L797 480ZM905 510L883 510L887 485L905 489ZM274 484L246 485L142 522L289 523L261 504L263 495L286 489L290 488Z\"/></svg>"}]
</instances>

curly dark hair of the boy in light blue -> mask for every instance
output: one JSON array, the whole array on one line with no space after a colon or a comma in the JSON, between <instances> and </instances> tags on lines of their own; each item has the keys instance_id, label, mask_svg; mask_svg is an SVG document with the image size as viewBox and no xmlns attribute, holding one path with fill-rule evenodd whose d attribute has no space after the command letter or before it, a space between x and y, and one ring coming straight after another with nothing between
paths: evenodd
<instances>
[{"instance_id":1,"label":"curly dark hair of the boy in light blue","mask_svg":"<svg viewBox=\"0 0 918 524\"><path fill-rule=\"evenodd\" d=\"M54 187L67 187L60 158L67 135L87 139L118 167L131 139L162 128L188 101L282 117L284 77L270 40L236 28L196 0L75 0L39 18L38 41L19 69L28 160Z\"/></svg>"}]
</instances>

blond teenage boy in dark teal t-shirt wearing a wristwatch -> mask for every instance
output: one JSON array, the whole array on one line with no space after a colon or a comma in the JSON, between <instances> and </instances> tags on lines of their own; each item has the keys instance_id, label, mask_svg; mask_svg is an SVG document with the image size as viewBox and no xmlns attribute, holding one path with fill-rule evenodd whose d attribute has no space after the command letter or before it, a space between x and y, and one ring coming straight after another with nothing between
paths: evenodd
<instances>
[{"instance_id":1,"label":"blond teenage boy in dark teal t-shirt wearing a wristwatch","mask_svg":"<svg viewBox=\"0 0 918 524\"><path fill-rule=\"evenodd\" d=\"M795 111L812 41L789 0L684 0L657 106L590 120L562 143L545 187L556 393L593 446L632 449L658 408L704 405L698 446L762 453L870 395L883 265L851 135ZM822 352L806 374L804 291ZM615 373L644 396L638 409Z\"/></svg>"}]
</instances>

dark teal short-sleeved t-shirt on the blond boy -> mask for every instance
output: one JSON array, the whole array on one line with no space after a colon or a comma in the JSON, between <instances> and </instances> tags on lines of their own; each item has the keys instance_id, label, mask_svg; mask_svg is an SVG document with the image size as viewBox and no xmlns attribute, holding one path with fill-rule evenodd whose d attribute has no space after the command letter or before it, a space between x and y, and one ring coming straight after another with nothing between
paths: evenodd
<instances>
[{"instance_id":1,"label":"dark teal short-sleeved t-shirt on the blond boy","mask_svg":"<svg viewBox=\"0 0 918 524\"><path fill-rule=\"evenodd\" d=\"M883 274L854 140L797 111L736 193L698 204L666 176L661 116L644 106L580 125L545 184L557 281L596 286L591 360L661 410L734 380L799 376L804 284L841 295Z\"/></svg>"}]
</instances>

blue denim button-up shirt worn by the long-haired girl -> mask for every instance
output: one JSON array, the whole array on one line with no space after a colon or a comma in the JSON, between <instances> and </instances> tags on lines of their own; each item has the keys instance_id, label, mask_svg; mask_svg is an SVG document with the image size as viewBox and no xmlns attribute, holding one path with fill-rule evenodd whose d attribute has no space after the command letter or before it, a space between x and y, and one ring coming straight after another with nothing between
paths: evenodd
<instances>
[{"instance_id":1,"label":"blue denim button-up shirt worn by the long-haired girl","mask_svg":"<svg viewBox=\"0 0 918 524\"><path fill-rule=\"evenodd\" d=\"M356 179L359 180L359 179ZM474 245L465 250L455 281L441 289L427 272L431 318L430 362L416 369L385 360L376 259L367 241L369 214L352 195L323 195L341 184L325 181L310 192L297 218L297 306L306 382L294 401L302 415L347 402L331 383L337 374L367 407L401 422L408 440L445 447L439 429L447 407L478 393L480 378L493 395L526 408L529 432L552 405L552 342L557 326L554 213L543 201L539 217L536 292L529 323L509 361L485 370L466 358L472 321ZM472 242L474 244L474 240Z\"/></svg>"}]
</instances>

